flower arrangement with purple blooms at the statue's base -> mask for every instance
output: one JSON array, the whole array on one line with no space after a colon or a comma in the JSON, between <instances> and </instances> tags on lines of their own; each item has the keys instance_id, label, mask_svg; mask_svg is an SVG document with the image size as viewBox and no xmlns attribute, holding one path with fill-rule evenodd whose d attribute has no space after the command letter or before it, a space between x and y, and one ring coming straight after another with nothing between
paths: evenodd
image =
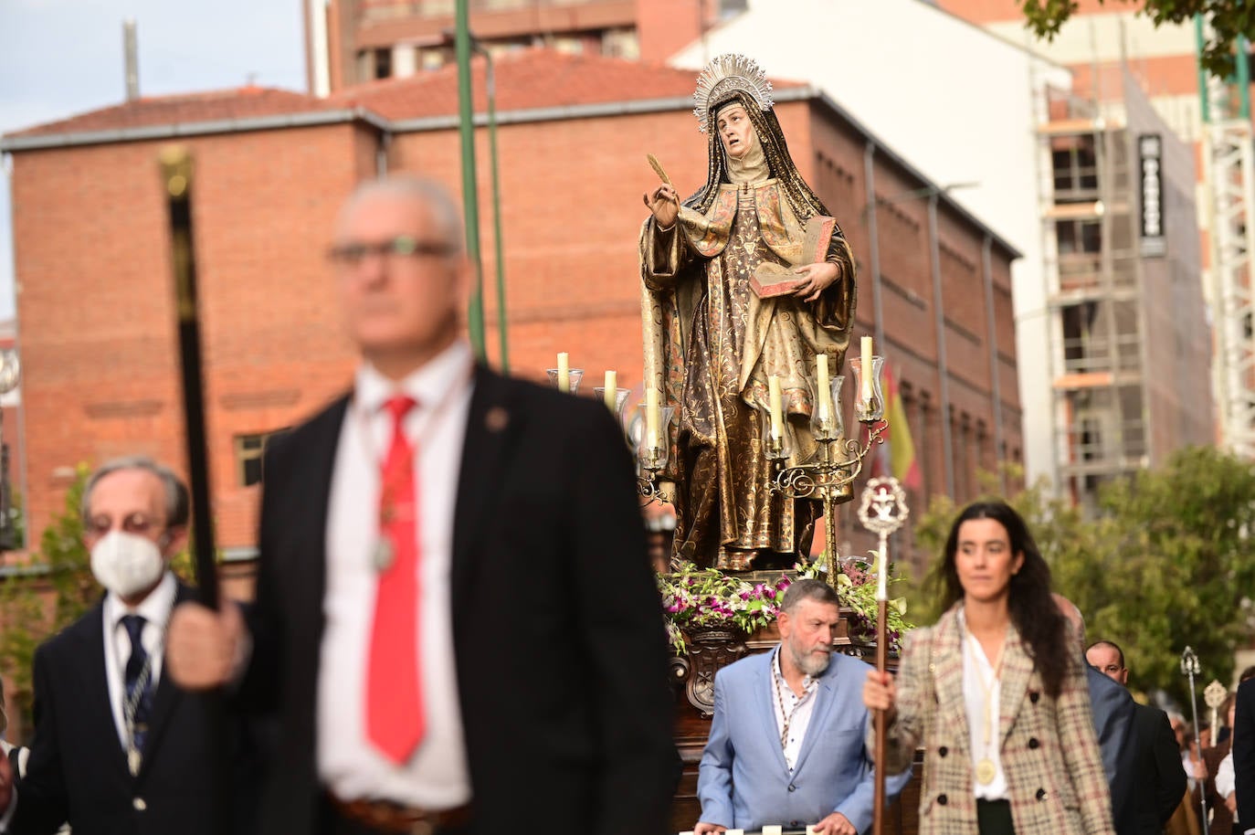
<instances>
[{"instance_id":1,"label":"flower arrangement with purple blooms at the statue's base","mask_svg":"<svg viewBox=\"0 0 1255 835\"><path fill-rule=\"evenodd\" d=\"M793 580L822 578L826 560L793 566L792 578L781 573L773 583L750 583L719 569L699 569L692 563L676 561L668 574L658 575L663 595L666 637L676 654L688 652L688 633L698 628L724 627L752 633L776 620L779 600ZM897 578L890 578L890 583ZM876 639L876 575L862 560L843 560L837 574L837 596L848 608L850 637L860 643ZM906 601L890 600L886 622L890 649L897 652L902 633L910 629L905 620Z\"/></svg>"}]
</instances>

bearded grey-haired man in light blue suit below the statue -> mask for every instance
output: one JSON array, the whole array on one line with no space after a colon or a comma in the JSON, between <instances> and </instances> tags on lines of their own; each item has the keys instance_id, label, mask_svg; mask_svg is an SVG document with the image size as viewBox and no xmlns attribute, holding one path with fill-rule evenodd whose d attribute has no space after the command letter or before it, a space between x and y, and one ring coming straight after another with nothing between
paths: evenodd
<instances>
[{"instance_id":1,"label":"bearded grey-haired man in light blue suit below the statue","mask_svg":"<svg viewBox=\"0 0 1255 835\"><path fill-rule=\"evenodd\" d=\"M836 593L820 580L798 580L781 601L779 647L715 676L695 835L773 824L814 825L823 835L871 830L867 664L832 652L838 620ZM890 776L887 796L910 778L910 768Z\"/></svg>"}]
</instances>

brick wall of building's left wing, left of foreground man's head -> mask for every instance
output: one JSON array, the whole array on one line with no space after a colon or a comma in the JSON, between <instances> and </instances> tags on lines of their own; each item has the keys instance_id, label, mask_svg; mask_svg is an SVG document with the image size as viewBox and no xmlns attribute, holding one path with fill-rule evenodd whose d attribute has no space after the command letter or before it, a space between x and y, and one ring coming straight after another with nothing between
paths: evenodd
<instances>
[{"instance_id":1,"label":"brick wall of building's left wing, left of foreground man's head","mask_svg":"<svg viewBox=\"0 0 1255 835\"><path fill-rule=\"evenodd\" d=\"M218 542L252 541L255 488L232 437L292 423L351 368L324 266L361 171L341 126L195 139L195 234ZM158 144L15 154L29 526L80 461L146 452L182 467L173 290Z\"/></svg>"}]
</instances>

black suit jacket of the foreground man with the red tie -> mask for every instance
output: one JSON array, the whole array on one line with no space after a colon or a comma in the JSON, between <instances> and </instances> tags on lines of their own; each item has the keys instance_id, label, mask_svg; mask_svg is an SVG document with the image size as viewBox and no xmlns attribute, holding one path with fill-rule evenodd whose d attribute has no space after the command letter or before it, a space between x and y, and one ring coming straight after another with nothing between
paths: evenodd
<instances>
[{"instance_id":1,"label":"black suit jacket of the foreground man with the red tie","mask_svg":"<svg viewBox=\"0 0 1255 835\"><path fill-rule=\"evenodd\" d=\"M346 407L266 452L241 689L279 708L266 832L312 832L319 815L324 540ZM607 409L479 368L458 482L420 488L457 490L451 594L473 830L665 831L676 758L661 610Z\"/></svg>"}]
</instances>

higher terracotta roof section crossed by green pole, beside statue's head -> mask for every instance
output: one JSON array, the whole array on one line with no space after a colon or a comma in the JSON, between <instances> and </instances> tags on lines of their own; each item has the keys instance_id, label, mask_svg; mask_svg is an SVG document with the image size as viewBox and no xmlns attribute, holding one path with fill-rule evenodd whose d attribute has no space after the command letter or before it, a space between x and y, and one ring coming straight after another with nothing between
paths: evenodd
<instances>
[{"instance_id":1,"label":"higher terracotta roof section crossed by green pole, beside statue's head","mask_svg":"<svg viewBox=\"0 0 1255 835\"><path fill-rule=\"evenodd\" d=\"M487 107L484 62L472 62L471 72L478 113ZM548 49L526 49L497 58L496 77L498 112L690 97L697 82L697 74L688 69ZM336 93L331 100L343 107L365 107L387 119L452 116L458 112L457 67L447 64L408 78L359 84Z\"/></svg>"}]
</instances>

